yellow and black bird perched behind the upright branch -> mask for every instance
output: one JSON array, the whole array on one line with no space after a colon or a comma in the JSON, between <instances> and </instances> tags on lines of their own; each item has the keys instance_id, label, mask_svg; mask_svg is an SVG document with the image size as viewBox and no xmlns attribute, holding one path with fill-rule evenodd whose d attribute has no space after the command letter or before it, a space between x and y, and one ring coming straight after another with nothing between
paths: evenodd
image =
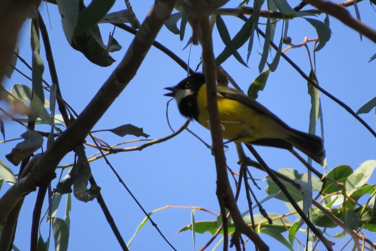
<instances>
[{"instance_id":1,"label":"yellow and black bird perched behind the upright branch","mask_svg":"<svg viewBox=\"0 0 376 251\"><path fill-rule=\"evenodd\" d=\"M181 115L196 120L210 130L205 75L194 73L164 94L176 99ZM217 85L218 112L222 136L228 142L283 148L293 147L323 165L324 150L320 137L289 127L262 104L241 91Z\"/></svg>"}]
</instances>

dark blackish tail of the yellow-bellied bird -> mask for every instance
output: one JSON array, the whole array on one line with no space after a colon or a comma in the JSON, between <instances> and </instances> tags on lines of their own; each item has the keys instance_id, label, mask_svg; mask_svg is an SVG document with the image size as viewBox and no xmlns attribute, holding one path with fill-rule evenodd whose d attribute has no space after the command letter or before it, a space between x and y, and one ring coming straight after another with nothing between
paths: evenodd
<instances>
[{"instance_id":1,"label":"dark blackish tail of the yellow-bellied bird","mask_svg":"<svg viewBox=\"0 0 376 251\"><path fill-rule=\"evenodd\" d=\"M300 132L298 130L290 131L291 135L288 141L298 150L307 154L315 162L324 165L324 146L323 140L312 134Z\"/></svg>"}]
</instances>

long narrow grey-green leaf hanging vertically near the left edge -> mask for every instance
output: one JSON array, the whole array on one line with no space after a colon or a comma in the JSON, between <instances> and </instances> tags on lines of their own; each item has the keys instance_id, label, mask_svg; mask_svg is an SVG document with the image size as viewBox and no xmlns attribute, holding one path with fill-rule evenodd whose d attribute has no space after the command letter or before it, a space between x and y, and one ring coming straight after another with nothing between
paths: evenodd
<instances>
[{"instance_id":1,"label":"long narrow grey-green leaf hanging vertically near the left edge","mask_svg":"<svg viewBox=\"0 0 376 251\"><path fill-rule=\"evenodd\" d=\"M38 30L39 31L39 30ZM44 71L44 64L41 56L39 55L38 33L31 23L31 36L30 44L33 51L32 54L32 86L33 86L33 98L30 103L30 121L35 121L40 115L42 115L44 109L44 92L42 88L42 74Z\"/></svg>"}]
</instances>

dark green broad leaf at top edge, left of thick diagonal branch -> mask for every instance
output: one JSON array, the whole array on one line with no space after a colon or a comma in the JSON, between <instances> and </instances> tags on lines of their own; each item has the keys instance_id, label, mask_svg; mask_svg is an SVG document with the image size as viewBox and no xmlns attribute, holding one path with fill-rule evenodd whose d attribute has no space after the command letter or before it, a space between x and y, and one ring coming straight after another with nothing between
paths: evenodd
<instances>
[{"instance_id":1,"label":"dark green broad leaf at top edge, left of thick diagonal branch","mask_svg":"<svg viewBox=\"0 0 376 251\"><path fill-rule=\"evenodd\" d=\"M115 0L92 0L87 8L79 12L74 35L81 35L95 26L111 9L114 3Z\"/></svg>"}]
</instances>

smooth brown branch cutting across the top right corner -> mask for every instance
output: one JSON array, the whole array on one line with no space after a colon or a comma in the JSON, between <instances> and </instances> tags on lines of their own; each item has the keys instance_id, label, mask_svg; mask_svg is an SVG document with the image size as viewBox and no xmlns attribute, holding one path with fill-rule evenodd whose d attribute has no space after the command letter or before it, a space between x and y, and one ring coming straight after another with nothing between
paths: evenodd
<instances>
[{"instance_id":1,"label":"smooth brown branch cutting across the top right corner","mask_svg":"<svg viewBox=\"0 0 376 251\"><path fill-rule=\"evenodd\" d=\"M337 18L342 23L346 24L353 30L356 30L357 32L363 34L376 43L376 30L362 23L360 20L353 18L350 15L350 12L347 11L343 6L325 0L305 0L305 2L315 6L320 11Z\"/></svg>"}]
</instances>

